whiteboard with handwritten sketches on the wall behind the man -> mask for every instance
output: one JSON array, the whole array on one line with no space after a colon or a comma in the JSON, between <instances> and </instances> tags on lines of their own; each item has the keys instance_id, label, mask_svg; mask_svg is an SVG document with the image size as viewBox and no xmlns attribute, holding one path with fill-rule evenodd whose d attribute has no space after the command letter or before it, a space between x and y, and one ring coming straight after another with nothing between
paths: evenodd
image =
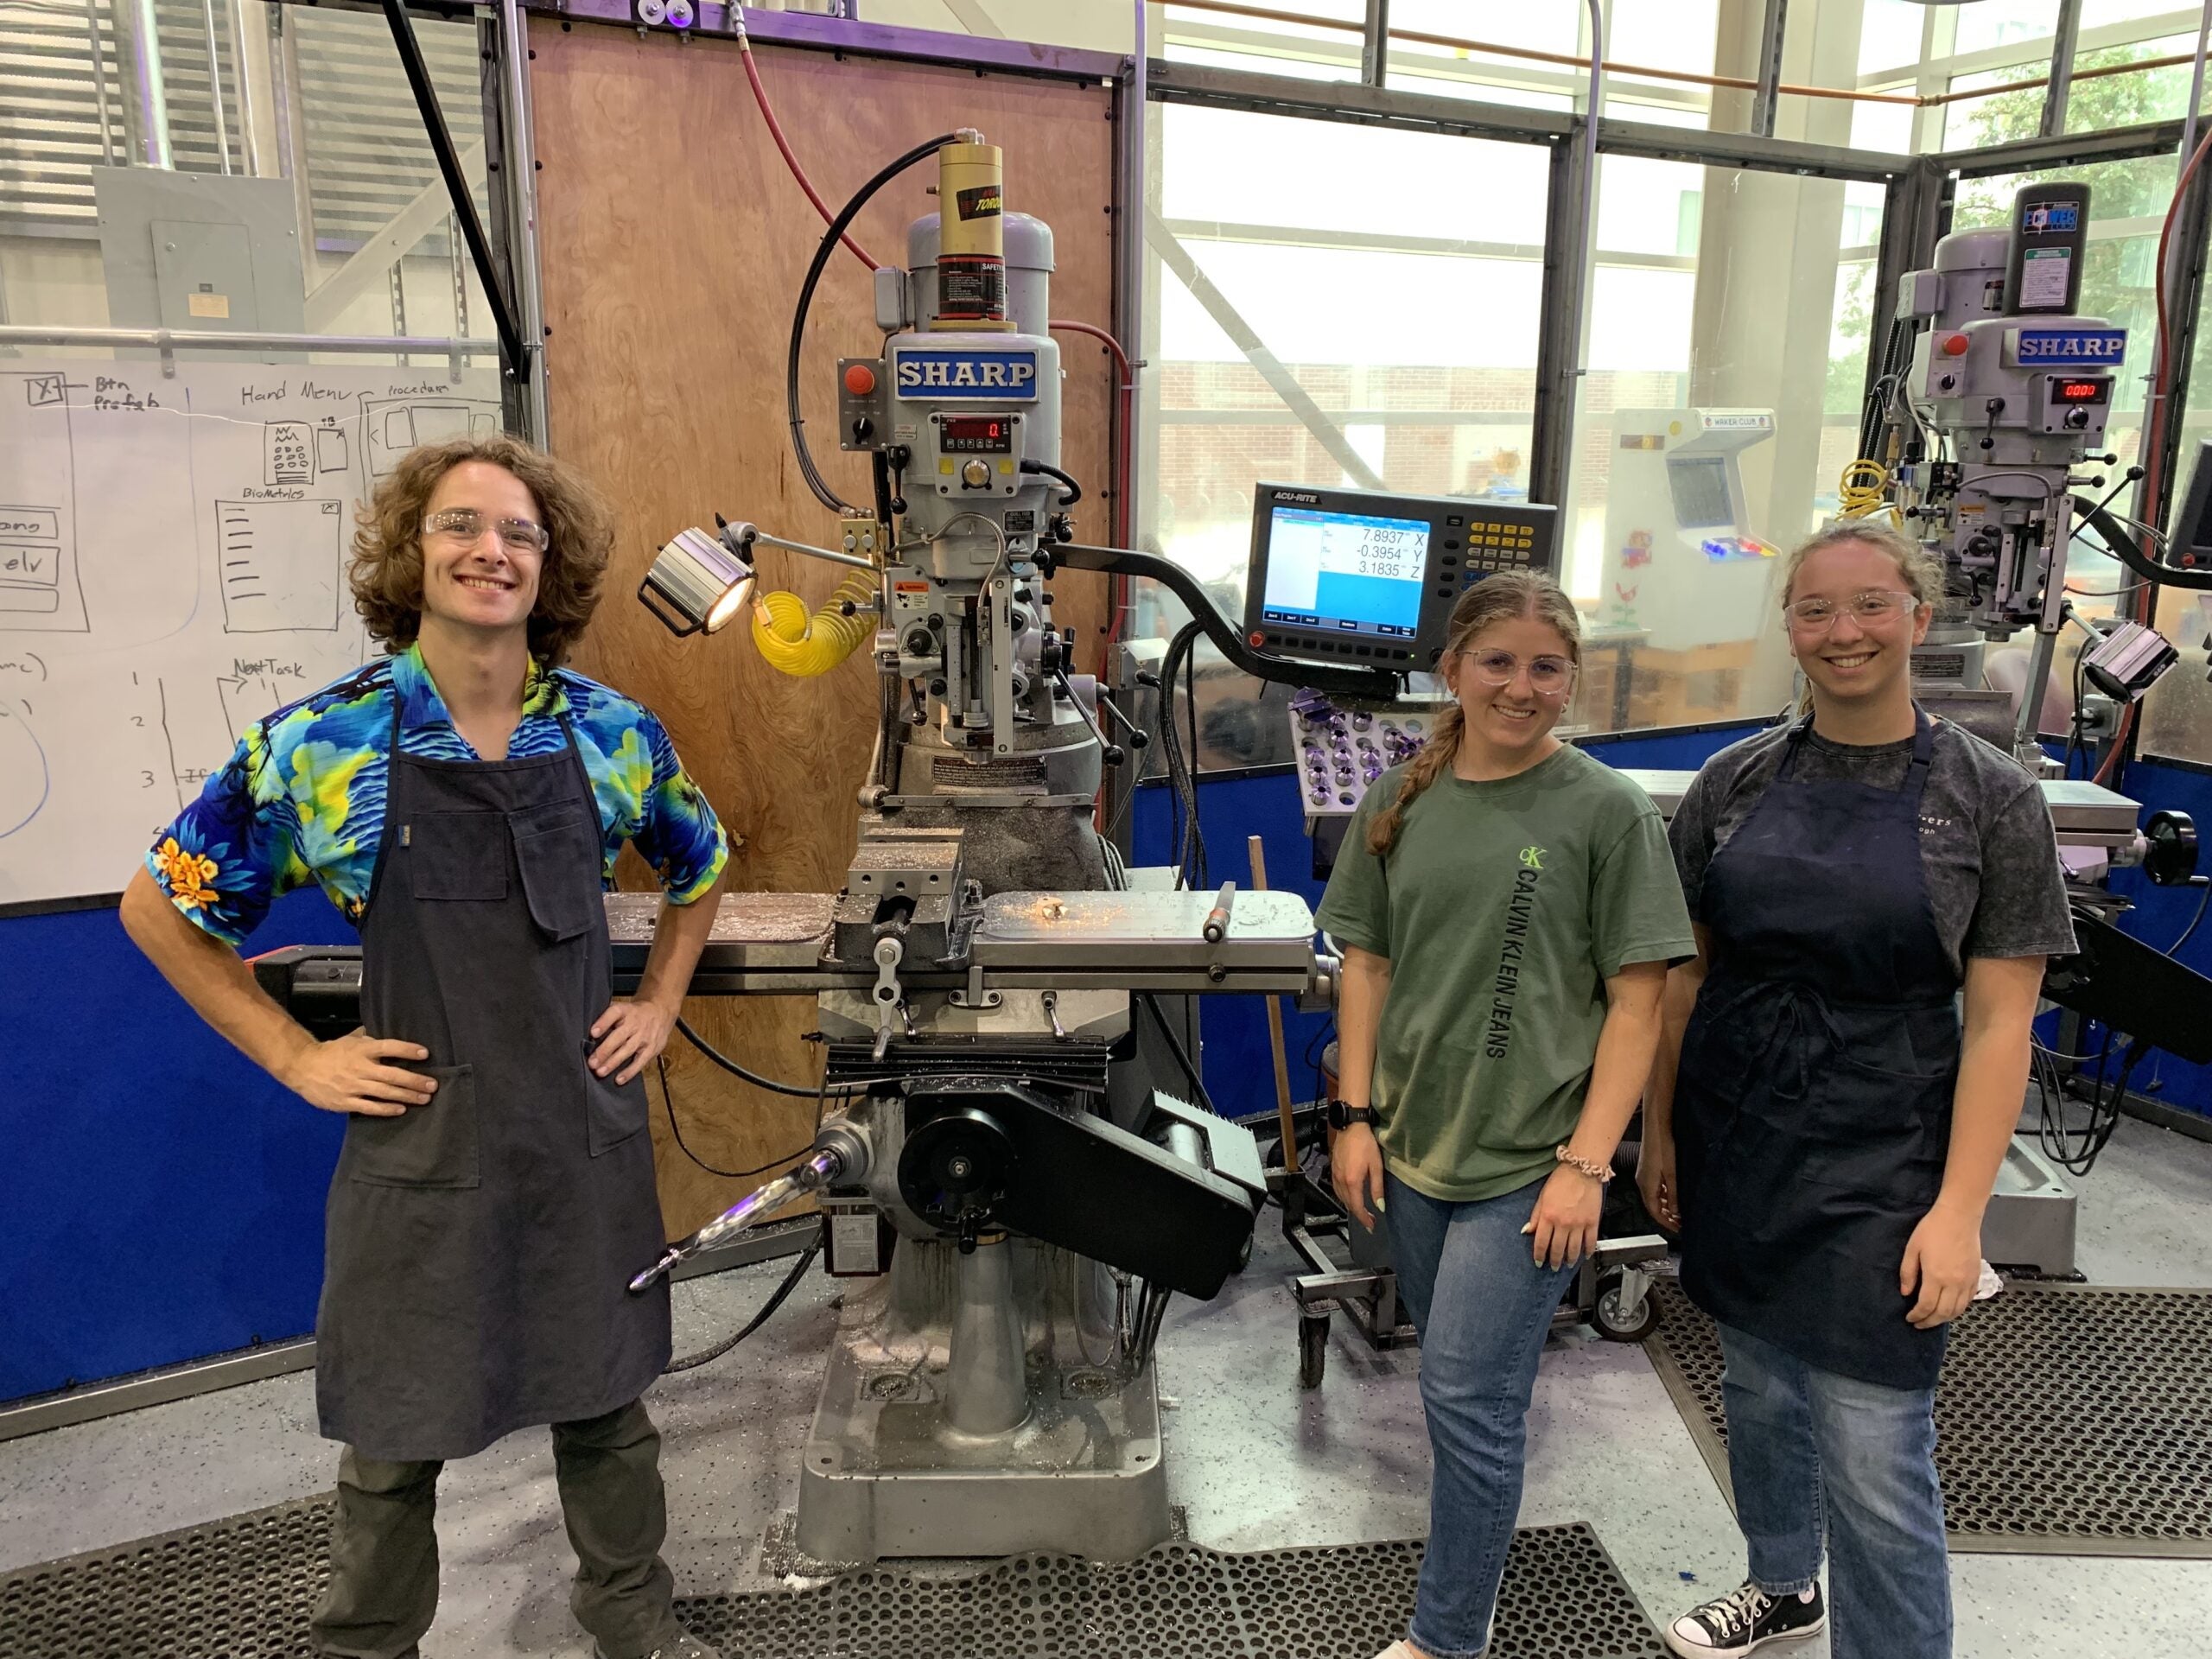
<instances>
[{"instance_id":1,"label":"whiteboard with handwritten sketches on the wall behind the man","mask_svg":"<svg viewBox=\"0 0 2212 1659\"><path fill-rule=\"evenodd\" d=\"M498 369L0 358L0 905L113 894L239 734L367 661L354 509Z\"/></svg>"}]
</instances>

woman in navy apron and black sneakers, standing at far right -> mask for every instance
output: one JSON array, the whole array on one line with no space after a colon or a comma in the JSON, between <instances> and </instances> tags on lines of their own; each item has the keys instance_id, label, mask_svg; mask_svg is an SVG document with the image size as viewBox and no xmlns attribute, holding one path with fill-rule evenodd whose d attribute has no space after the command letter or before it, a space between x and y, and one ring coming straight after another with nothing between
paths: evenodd
<instances>
[{"instance_id":1,"label":"woman in navy apron and black sneakers, standing at far right","mask_svg":"<svg viewBox=\"0 0 2212 1659\"><path fill-rule=\"evenodd\" d=\"M1708 761L1670 827L1699 958L1639 1183L1719 1323L1750 1582L1666 1641L1710 1659L1832 1621L1836 1659L1942 1659L1936 1378L2073 929L2035 781L1913 706L1927 555L1849 520L1781 582L1809 706Z\"/></svg>"}]
</instances>

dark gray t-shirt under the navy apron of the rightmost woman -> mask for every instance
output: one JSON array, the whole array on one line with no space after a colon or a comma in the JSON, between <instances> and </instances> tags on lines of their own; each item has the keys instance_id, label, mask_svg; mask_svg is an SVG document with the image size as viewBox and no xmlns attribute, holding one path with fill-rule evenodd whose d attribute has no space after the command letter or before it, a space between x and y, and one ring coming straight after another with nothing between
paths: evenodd
<instances>
[{"instance_id":1,"label":"dark gray t-shirt under the navy apron of the rightmost woman","mask_svg":"<svg viewBox=\"0 0 2212 1659\"><path fill-rule=\"evenodd\" d=\"M1705 761L1668 827L1690 916L1705 920L1705 869L1767 792L1790 726L1732 743ZM1869 748L1807 732L1792 776L1851 779L1896 790L1913 743ZM1936 933L1964 980L1969 956L2066 956L2075 949L2051 810L2026 768L1949 721L1936 723L1920 796L1920 863Z\"/></svg>"}]
</instances>

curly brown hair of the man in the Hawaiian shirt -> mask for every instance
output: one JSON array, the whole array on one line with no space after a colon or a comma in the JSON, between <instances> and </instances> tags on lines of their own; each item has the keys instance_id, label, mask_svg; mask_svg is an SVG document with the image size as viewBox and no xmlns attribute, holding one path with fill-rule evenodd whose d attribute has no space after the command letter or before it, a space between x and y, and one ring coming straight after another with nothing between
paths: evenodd
<instances>
[{"instance_id":1,"label":"curly brown hair of the man in the Hawaiian shirt","mask_svg":"<svg viewBox=\"0 0 2212 1659\"><path fill-rule=\"evenodd\" d=\"M504 431L400 456L354 515L347 566L354 608L385 650L396 655L416 641L422 630L422 513L438 480L469 460L504 467L538 500L546 555L531 606L531 655L546 666L560 664L599 606L599 584L615 551L615 509L575 467Z\"/></svg>"}]
</instances>

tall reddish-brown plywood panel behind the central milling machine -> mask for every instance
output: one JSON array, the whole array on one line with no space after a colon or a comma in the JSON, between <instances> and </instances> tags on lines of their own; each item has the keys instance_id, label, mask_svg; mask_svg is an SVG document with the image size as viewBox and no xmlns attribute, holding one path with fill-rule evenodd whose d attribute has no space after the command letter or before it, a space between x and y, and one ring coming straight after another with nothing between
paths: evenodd
<instances>
[{"instance_id":1,"label":"tall reddish-brown plywood panel behind the central milling machine","mask_svg":"<svg viewBox=\"0 0 2212 1659\"><path fill-rule=\"evenodd\" d=\"M622 507L606 602L575 655L584 672L655 708L686 765L741 845L732 887L834 891L852 852L854 790L874 739L876 677L865 659L821 679L785 679L739 633L672 639L633 599L653 549L721 511L805 542L836 531L799 478L783 407L792 303L821 219L785 173L726 42L637 38L604 27L538 27L531 93L542 173L546 365L557 453ZM1102 86L757 49L776 115L823 197L838 206L876 168L953 126L1006 148L1006 206L1053 226L1053 314L1110 319L1113 119ZM907 223L936 204L925 164L887 186L856 234L905 263ZM867 500L863 456L834 447L834 358L874 352L867 272L849 254L814 301L805 414L816 458L847 500ZM1108 540L1104 500L1113 369L1104 349L1062 336L1062 465L1091 489L1086 540ZM763 577L807 599L836 571L765 551ZM1057 615L1095 659L1104 588L1053 582ZM644 869L624 872L646 885ZM692 1000L688 1018L754 1071L814 1082L801 1040L814 1002ZM814 1104L754 1091L681 1040L668 1077L684 1141L721 1170L752 1170L803 1148ZM697 1168L668 1135L655 1095L661 1208L688 1232L759 1183Z\"/></svg>"}]
</instances>

